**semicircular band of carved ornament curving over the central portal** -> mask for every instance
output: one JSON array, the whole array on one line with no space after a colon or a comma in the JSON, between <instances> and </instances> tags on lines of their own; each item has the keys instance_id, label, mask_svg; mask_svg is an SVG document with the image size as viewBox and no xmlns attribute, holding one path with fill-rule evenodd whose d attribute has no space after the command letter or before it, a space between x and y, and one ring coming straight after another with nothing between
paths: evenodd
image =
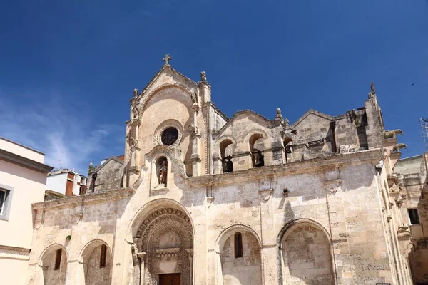
<instances>
[{"instance_id":1,"label":"semicircular band of carved ornament curving over the central portal","mask_svg":"<svg viewBox=\"0 0 428 285\"><path fill-rule=\"evenodd\" d=\"M190 237L192 234L192 224L189 217L179 209L163 208L158 209L146 217L141 226L138 228L136 237L141 238L141 249L144 251L146 248L146 242L153 229L163 222L173 221L177 224L181 224L185 232L189 232Z\"/></svg>"}]
</instances>

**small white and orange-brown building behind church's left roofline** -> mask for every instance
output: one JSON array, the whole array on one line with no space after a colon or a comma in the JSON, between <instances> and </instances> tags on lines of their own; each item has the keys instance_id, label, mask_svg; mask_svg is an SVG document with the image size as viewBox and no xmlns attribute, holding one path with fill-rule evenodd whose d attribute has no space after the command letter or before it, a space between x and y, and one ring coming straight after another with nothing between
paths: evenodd
<instances>
[{"instance_id":1,"label":"small white and orange-brown building behind church's left roofline","mask_svg":"<svg viewBox=\"0 0 428 285\"><path fill-rule=\"evenodd\" d=\"M86 177L67 168L49 172L46 180L46 197L49 199L55 194L58 197L86 194Z\"/></svg>"}]
</instances>

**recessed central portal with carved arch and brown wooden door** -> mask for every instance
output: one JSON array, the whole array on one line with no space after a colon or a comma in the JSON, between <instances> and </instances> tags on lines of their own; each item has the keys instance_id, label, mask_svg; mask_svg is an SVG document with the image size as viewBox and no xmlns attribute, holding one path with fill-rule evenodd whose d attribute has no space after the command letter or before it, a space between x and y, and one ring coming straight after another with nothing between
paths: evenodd
<instances>
[{"instance_id":1,"label":"recessed central portal with carved arch and brown wooden door","mask_svg":"<svg viewBox=\"0 0 428 285\"><path fill-rule=\"evenodd\" d=\"M134 284L192 284L193 227L183 210L161 207L151 211L133 241ZM136 266L138 262L141 265Z\"/></svg>"}]
</instances>

